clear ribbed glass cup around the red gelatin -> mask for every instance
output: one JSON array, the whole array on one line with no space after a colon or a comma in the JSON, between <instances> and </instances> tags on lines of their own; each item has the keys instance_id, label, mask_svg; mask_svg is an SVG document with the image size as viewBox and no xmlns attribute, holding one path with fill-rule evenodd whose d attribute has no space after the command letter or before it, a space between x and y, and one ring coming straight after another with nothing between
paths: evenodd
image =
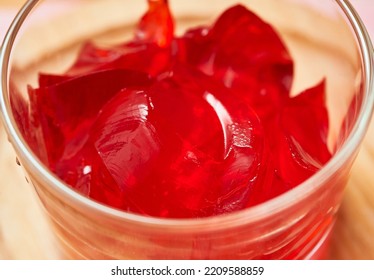
<instances>
[{"instance_id":1,"label":"clear ribbed glass cup around the red gelatin","mask_svg":"<svg viewBox=\"0 0 374 280\"><path fill-rule=\"evenodd\" d=\"M231 0L170 0L178 32L211 23ZM318 3L317 3L318 2ZM59 240L61 258L318 259L328 241L374 104L373 49L348 1L241 1L281 34L295 59L300 91L327 79L333 158L294 189L227 215L166 219L110 208L74 191L42 164L20 132L15 98L39 72L63 73L82 42L115 44L131 34L146 1L29 0L1 50L1 114L29 181ZM53 8L52 8L53 7ZM48 11L48 12L46 12Z\"/></svg>"}]
</instances>

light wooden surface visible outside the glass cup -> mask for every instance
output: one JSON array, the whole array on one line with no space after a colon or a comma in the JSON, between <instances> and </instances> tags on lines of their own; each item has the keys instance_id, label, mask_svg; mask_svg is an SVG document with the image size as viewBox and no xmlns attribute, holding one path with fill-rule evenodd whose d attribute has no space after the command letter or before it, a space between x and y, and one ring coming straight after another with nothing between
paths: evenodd
<instances>
[{"instance_id":1,"label":"light wooden surface visible outside the glass cup","mask_svg":"<svg viewBox=\"0 0 374 280\"><path fill-rule=\"evenodd\" d=\"M0 0L0 11L15 11L22 2ZM5 28L4 24L0 28ZM57 252L44 212L16 164L0 124L0 259L55 258ZM330 258L374 259L374 121L352 169Z\"/></svg>"}]
</instances>

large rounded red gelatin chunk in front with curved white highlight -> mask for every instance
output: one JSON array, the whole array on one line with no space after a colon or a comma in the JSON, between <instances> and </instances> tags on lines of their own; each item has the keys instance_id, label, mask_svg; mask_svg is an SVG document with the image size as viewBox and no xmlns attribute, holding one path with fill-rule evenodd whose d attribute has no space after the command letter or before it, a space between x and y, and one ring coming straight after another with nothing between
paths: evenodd
<instances>
[{"instance_id":1,"label":"large rounded red gelatin chunk in front with curved white highlight","mask_svg":"<svg viewBox=\"0 0 374 280\"><path fill-rule=\"evenodd\" d=\"M249 107L234 100L222 104L212 87L207 92L206 80L176 70L146 90L121 92L104 106L90 141L126 193L124 208L202 217L249 203L260 176L263 135L256 134L262 129Z\"/></svg>"}]
</instances>

